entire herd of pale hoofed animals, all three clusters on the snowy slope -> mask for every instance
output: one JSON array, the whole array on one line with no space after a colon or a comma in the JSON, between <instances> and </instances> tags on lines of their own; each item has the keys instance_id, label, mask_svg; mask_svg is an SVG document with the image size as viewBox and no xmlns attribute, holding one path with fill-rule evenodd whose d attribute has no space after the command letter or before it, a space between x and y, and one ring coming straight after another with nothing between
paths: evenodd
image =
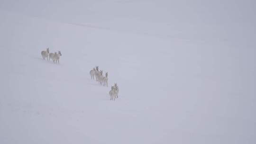
<instances>
[{"instance_id":1,"label":"entire herd of pale hoofed animals, all three clusters on the snowy slope","mask_svg":"<svg viewBox=\"0 0 256 144\"><path fill-rule=\"evenodd\" d=\"M60 51L55 53L49 53L49 48L46 48L46 51L41 52L43 60L47 58L47 61L53 60L53 63L60 64L60 56L62 55ZM108 72L105 73L105 76L102 75L103 71L99 71L99 66L96 66L96 68L93 68L90 71L91 79L98 81L100 85L109 87L109 78L108 78ZM114 84L114 86L111 86L111 90L109 92L110 94L110 100L115 100L118 98L119 93L119 87L117 83Z\"/></svg>"}]
</instances>

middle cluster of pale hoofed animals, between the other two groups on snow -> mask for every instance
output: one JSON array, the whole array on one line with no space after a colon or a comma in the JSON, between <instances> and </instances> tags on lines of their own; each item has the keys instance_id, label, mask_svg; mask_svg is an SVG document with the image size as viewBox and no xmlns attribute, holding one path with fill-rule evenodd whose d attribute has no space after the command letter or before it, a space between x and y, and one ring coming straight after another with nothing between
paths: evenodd
<instances>
[{"instance_id":1,"label":"middle cluster of pale hoofed animals, between the other two groups on snow","mask_svg":"<svg viewBox=\"0 0 256 144\"><path fill-rule=\"evenodd\" d=\"M102 70L99 71L99 66L96 66L96 68L93 68L90 71L91 79L94 80L94 77L95 77L96 81L98 81L100 85L109 87L108 72L106 72L105 76L103 76L102 74L103 74L103 71Z\"/></svg>"}]
</instances>

